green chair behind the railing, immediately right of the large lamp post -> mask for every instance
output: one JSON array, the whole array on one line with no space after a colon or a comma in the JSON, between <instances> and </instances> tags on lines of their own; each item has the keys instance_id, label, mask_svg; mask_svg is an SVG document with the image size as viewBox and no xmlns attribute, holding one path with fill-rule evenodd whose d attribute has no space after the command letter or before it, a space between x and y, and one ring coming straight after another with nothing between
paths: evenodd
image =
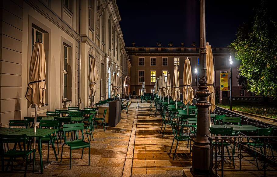
<instances>
[{"instance_id":1,"label":"green chair behind the railing, immediately right of the large lamp post","mask_svg":"<svg viewBox=\"0 0 277 177\"><path fill-rule=\"evenodd\" d=\"M210 128L210 133L211 133L212 136L218 136L218 135L220 135L220 136L232 136L233 127L230 127L230 128L211 127ZM222 147L222 146L226 147L229 159L230 159L230 161L233 161L233 167L235 168L235 161L234 161L235 156L234 156L234 151L233 151L233 147L232 147L231 143L226 142L226 140L224 140L223 143L222 143L221 140L219 139L219 141L212 142L212 145L219 147L219 150L220 150L220 147ZM231 147L232 158L231 158L230 151L229 151L228 147ZM224 149L222 149L222 151L224 151Z\"/></svg>"}]
</instances>

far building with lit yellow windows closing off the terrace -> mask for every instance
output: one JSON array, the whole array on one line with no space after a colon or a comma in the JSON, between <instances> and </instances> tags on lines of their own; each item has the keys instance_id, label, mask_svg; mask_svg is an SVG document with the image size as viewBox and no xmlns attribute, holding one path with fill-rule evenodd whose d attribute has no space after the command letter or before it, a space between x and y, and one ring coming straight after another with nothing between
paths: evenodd
<instances>
[{"instance_id":1,"label":"far building with lit yellow windows closing off the terrace","mask_svg":"<svg viewBox=\"0 0 277 177\"><path fill-rule=\"evenodd\" d=\"M182 44L181 44L182 45ZM181 46L180 45L180 46ZM146 93L152 93L156 78L165 73L170 73L171 84L173 80L174 65L178 66L180 72L180 90L183 90L183 70L184 60L186 57L190 59L192 72L192 88L195 90L195 83L198 85L199 74L199 48L184 47L156 47L156 48L137 48L125 47L131 60L131 87L130 90L136 91L136 95L141 95L142 82L145 81ZM228 48L212 48L214 61L214 89L216 97L220 96L220 73L230 73L230 53ZM239 62L233 59L232 65L232 97L241 98L251 96L250 93L242 90L242 86L238 85L237 77ZM195 73L195 69L198 73ZM230 88L230 80L228 79L228 90ZM229 97L230 91L223 92L223 96ZM244 93L245 92L245 93Z\"/></svg>"}]
</instances>

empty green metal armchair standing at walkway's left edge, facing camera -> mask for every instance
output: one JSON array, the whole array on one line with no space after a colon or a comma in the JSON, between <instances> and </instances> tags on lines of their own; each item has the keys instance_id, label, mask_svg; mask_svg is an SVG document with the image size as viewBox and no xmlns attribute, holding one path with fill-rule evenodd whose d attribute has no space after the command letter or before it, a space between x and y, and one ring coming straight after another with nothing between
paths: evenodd
<instances>
[{"instance_id":1,"label":"empty green metal armchair standing at walkway's left edge, facing camera","mask_svg":"<svg viewBox=\"0 0 277 177\"><path fill-rule=\"evenodd\" d=\"M72 154L72 150L75 150L75 149L82 149L82 156L81 158L83 158L83 152L84 152L84 148L88 147L89 148L89 165L90 165L90 143L89 142L86 142L84 140L84 132L83 132L83 129L84 129L84 124L83 123L73 123L73 124L64 124L63 126L63 137L64 137L64 144L62 145L62 148L61 148L61 161L62 161L62 154L63 154L63 148L64 148L64 145L67 145L69 146L69 149L70 149L70 165L69 165L69 168L71 169L71 154ZM71 133L71 137L72 137L72 134L77 134L77 131L81 130L82 132L82 140L79 140L78 139L78 136L76 137L77 139L76 140L69 140L68 137L65 135L66 132L69 132ZM89 133L85 133L85 134L89 134Z\"/></svg>"}]
</instances>

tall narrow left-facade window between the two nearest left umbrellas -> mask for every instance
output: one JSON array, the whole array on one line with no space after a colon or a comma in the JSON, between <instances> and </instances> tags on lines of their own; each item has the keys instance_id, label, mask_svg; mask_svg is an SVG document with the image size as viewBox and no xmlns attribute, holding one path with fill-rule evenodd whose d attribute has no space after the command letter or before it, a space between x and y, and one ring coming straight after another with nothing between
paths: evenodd
<instances>
[{"instance_id":1,"label":"tall narrow left-facade window between the two nearest left umbrellas","mask_svg":"<svg viewBox=\"0 0 277 177\"><path fill-rule=\"evenodd\" d=\"M64 66L63 66L63 100L68 100L68 47L63 45L64 47Z\"/></svg>"}]
</instances>

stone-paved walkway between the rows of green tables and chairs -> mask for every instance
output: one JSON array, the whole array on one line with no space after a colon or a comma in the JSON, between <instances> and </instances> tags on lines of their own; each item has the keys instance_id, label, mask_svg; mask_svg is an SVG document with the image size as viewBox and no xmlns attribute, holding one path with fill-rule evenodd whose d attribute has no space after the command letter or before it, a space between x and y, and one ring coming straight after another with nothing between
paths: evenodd
<instances>
[{"instance_id":1,"label":"stone-paved walkway between the rows of green tables and chairs","mask_svg":"<svg viewBox=\"0 0 277 177\"><path fill-rule=\"evenodd\" d=\"M69 169L69 149L65 146L62 162L61 154L55 161L54 153L50 150L50 161L44 173L27 172L27 176L70 176L70 177L171 177L182 176L183 169L188 171L192 167L192 154L189 153L187 142L179 142L177 154L173 158L173 150L169 154L173 134L171 126L167 125L165 134L160 134L162 119L159 113L155 115L155 108L150 109L149 103L132 100L128 107L129 116L125 111L121 113L121 121L115 127L108 127L104 132L102 126L94 129L94 141L90 143L90 166L88 166L88 149L72 150L72 169ZM61 144L59 145L61 151ZM43 159L47 159L47 145L43 145ZM38 154L36 156L39 157ZM227 161L226 165L232 166ZM39 159L36 160L38 166ZM236 169L239 161L235 159ZM14 164L16 165L16 164ZM244 164L256 168L255 161ZM224 176L238 176L242 173L230 172ZM262 173L247 172L246 176L260 176ZM270 173L268 173L270 174ZM0 176L23 176L22 171L0 173Z\"/></svg>"}]
</instances>

